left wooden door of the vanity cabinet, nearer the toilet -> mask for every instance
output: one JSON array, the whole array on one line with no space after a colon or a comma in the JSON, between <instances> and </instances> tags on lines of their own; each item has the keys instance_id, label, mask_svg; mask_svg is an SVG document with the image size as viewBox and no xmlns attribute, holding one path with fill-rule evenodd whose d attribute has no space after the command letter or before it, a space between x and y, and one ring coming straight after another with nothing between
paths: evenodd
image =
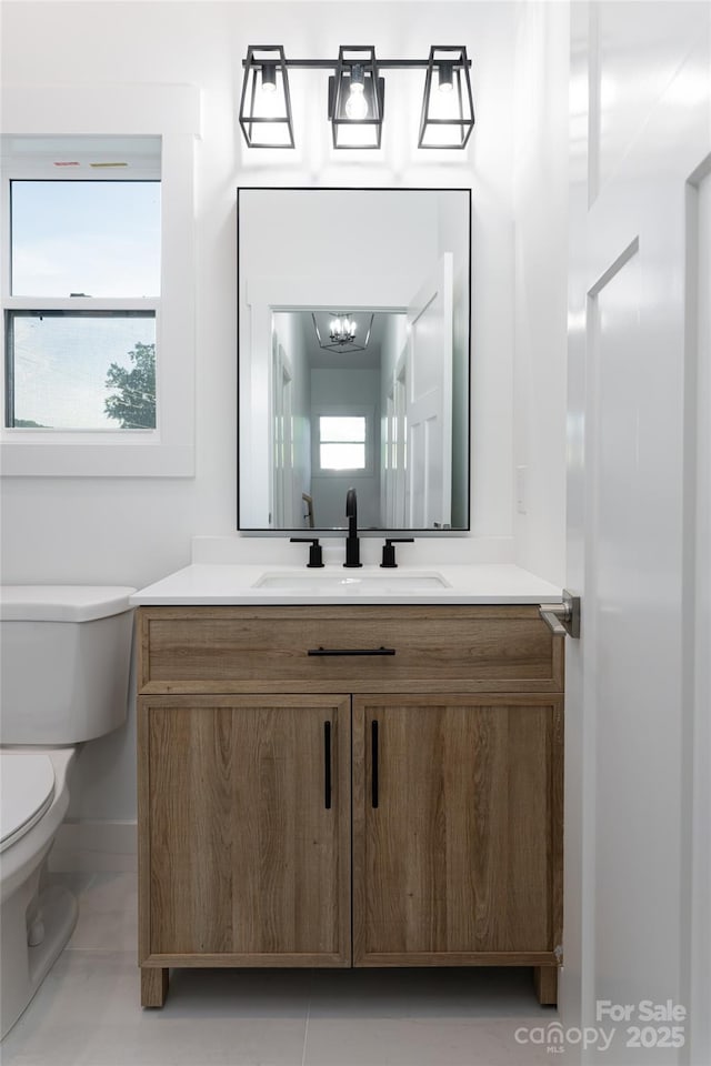
<instances>
[{"instance_id":1,"label":"left wooden door of the vanity cabinet, nearer the toilet","mask_svg":"<svg viewBox=\"0 0 711 1066\"><path fill-rule=\"evenodd\" d=\"M141 697L143 966L350 965L350 727L343 696Z\"/></svg>"}]
</instances>

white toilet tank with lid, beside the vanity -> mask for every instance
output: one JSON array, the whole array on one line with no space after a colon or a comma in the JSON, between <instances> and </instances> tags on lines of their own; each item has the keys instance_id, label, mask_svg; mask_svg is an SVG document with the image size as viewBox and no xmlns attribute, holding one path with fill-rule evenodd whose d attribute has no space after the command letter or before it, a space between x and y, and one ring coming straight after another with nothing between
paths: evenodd
<instances>
[{"instance_id":1,"label":"white toilet tank with lid, beside the vanity","mask_svg":"<svg viewBox=\"0 0 711 1066\"><path fill-rule=\"evenodd\" d=\"M126 721L134 591L0 586L2 744L76 744Z\"/></svg>"}]
</instances>

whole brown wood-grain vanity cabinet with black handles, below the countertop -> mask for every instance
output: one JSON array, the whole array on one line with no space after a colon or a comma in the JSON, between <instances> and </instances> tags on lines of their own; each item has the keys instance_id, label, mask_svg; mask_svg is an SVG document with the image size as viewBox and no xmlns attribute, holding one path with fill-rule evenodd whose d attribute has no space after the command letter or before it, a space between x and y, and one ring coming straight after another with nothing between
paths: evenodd
<instances>
[{"instance_id":1,"label":"whole brown wood-grain vanity cabinet with black handles, below the countertop","mask_svg":"<svg viewBox=\"0 0 711 1066\"><path fill-rule=\"evenodd\" d=\"M178 966L531 966L555 1002L562 640L534 606L139 632L144 1006Z\"/></svg>"}]
</instances>

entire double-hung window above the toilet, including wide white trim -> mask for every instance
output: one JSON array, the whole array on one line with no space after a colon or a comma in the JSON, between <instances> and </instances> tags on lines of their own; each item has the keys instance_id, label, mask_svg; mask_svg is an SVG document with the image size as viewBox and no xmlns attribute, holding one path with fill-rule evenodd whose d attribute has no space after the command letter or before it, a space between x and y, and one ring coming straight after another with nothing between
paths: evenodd
<instances>
[{"instance_id":1,"label":"entire double-hung window above the toilet, including wide white trim","mask_svg":"<svg viewBox=\"0 0 711 1066\"><path fill-rule=\"evenodd\" d=\"M199 135L189 86L4 87L3 476L194 475Z\"/></svg>"}]
</instances>

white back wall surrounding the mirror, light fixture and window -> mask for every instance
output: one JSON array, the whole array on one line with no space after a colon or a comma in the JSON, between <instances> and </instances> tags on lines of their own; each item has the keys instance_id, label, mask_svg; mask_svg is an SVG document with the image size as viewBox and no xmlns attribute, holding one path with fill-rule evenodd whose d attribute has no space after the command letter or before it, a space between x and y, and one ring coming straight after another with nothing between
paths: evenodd
<instances>
[{"instance_id":1,"label":"white back wall surrounding the mirror, light fixture and window","mask_svg":"<svg viewBox=\"0 0 711 1066\"><path fill-rule=\"evenodd\" d=\"M196 534L236 526L236 189L244 184L429 185L473 189L472 557L485 537L512 534L514 225L512 214L515 6L507 2L64 3L2 6L2 79L20 86L189 83L202 100L197 147L197 452L193 479L6 479L6 582L144 585L190 560ZM41 33L37 28L41 26ZM293 78L298 148L247 150L237 124L241 58L279 38L293 57L336 54L367 39L379 54L419 58L463 43L473 59L477 127L465 152L417 152L420 73L388 78L383 149L371 161L334 157L323 79ZM51 90L50 90L51 91ZM405 100L411 100L405 104ZM408 110L409 109L409 110ZM61 133L61 129L48 130ZM279 234L271 234L278 241ZM540 400L531 393L529 408ZM541 428L542 433L542 428ZM542 436L539 438L542 443ZM525 442L517 445L524 460ZM537 459L537 465L542 460ZM560 500L555 503L560 507ZM541 549L560 512L541 507L524 557L544 576ZM434 542L432 542L434 544ZM537 549L535 545L539 545ZM427 545L425 545L427 547ZM253 545L246 551L253 550ZM422 549L424 550L424 549ZM537 551L541 565L538 565ZM562 549L561 549L562 551ZM128 730L82 756L71 814L134 817L133 714Z\"/></svg>"}]
</instances>

